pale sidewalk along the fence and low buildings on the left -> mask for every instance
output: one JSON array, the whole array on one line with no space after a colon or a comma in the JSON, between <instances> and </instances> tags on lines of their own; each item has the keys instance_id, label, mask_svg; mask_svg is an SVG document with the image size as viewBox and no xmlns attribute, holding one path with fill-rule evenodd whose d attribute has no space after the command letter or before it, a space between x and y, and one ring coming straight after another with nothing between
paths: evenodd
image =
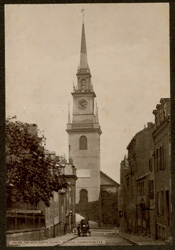
<instances>
[{"instance_id":1,"label":"pale sidewalk along the fence and low buildings on the left","mask_svg":"<svg viewBox=\"0 0 175 250\"><path fill-rule=\"evenodd\" d=\"M56 246L61 245L64 242L70 241L72 239L77 238L78 235L73 233L64 234L61 236L57 236L55 238L49 238L41 241L10 241L8 246L18 246L18 247L28 247L28 246Z\"/></svg>"}]
</instances>

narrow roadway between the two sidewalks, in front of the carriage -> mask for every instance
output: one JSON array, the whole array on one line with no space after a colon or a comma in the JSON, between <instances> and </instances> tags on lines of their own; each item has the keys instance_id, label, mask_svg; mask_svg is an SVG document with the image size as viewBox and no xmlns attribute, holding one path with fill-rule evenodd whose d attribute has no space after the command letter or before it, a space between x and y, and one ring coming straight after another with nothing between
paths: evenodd
<instances>
[{"instance_id":1,"label":"narrow roadway between the two sidewalks, in front of the carriage","mask_svg":"<svg viewBox=\"0 0 175 250\"><path fill-rule=\"evenodd\" d=\"M113 229L92 229L91 236L76 237L72 240L59 244L61 246L101 246L101 245L133 245L123 239Z\"/></svg>"}]
</instances>

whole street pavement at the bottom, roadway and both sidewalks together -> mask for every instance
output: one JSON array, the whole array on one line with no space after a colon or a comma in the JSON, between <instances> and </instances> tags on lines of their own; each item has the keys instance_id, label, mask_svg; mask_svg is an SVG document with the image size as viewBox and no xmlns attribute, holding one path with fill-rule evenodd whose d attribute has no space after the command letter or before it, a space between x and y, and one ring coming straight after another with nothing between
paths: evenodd
<instances>
[{"instance_id":1,"label":"whole street pavement at the bottom, roadway and both sidewalks together","mask_svg":"<svg viewBox=\"0 0 175 250\"><path fill-rule=\"evenodd\" d=\"M91 236L78 237L67 233L41 241L9 241L7 246L119 246L119 245L171 245L171 242L153 240L150 237L119 233L118 229L92 229Z\"/></svg>"}]
</instances>

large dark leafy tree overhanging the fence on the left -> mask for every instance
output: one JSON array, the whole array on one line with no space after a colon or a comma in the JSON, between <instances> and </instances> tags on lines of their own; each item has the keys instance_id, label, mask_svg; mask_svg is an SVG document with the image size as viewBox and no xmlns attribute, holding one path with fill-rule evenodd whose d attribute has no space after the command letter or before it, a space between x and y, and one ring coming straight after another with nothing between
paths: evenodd
<instances>
[{"instance_id":1,"label":"large dark leafy tree overhanging the fence on the left","mask_svg":"<svg viewBox=\"0 0 175 250\"><path fill-rule=\"evenodd\" d=\"M55 162L46 158L45 138L38 132L36 125L15 117L6 120L7 205L12 201L37 205L42 200L49 206L53 190L66 187Z\"/></svg>"}]
</instances>

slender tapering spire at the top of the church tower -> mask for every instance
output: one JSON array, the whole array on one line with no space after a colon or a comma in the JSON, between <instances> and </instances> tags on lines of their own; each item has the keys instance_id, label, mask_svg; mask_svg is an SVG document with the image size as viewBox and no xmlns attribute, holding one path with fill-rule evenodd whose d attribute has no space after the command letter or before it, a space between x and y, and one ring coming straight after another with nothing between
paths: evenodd
<instances>
[{"instance_id":1,"label":"slender tapering spire at the top of the church tower","mask_svg":"<svg viewBox=\"0 0 175 250\"><path fill-rule=\"evenodd\" d=\"M81 34L81 50L80 50L80 69L87 69L87 49L86 49L86 36L84 22L82 24L82 34Z\"/></svg>"}]
</instances>

